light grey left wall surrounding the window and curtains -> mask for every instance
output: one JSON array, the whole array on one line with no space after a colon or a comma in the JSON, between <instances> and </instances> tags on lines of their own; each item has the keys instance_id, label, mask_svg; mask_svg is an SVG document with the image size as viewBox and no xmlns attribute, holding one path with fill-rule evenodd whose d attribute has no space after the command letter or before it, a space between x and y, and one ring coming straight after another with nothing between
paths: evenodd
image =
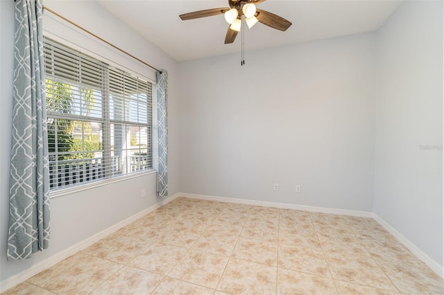
<instances>
[{"instance_id":1,"label":"light grey left wall surrounding the window and curtains","mask_svg":"<svg viewBox=\"0 0 444 295\"><path fill-rule=\"evenodd\" d=\"M137 35L95 1L44 1L44 5L85 26L134 56L169 71L169 192L178 192L178 71L177 63ZM155 174L88 189L51 199L51 241L48 250L30 260L6 261L8 233L8 183L12 120L14 1L0 1L0 282L52 255L105 230L119 221L162 201L155 196ZM98 18L97 15L100 15ZM147 196L140 197L141 189Z\"/></svg>"}]
</instances>

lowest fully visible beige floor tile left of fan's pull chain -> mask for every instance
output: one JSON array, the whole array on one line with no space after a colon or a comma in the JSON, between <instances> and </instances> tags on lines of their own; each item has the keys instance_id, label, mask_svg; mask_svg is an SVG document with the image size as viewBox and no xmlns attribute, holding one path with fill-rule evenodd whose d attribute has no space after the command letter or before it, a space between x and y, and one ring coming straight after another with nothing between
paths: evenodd
<instances>
[{"instance_id":1,"label":"lowest fully visible beige floor tile left of fan's pull chain","mask_svg":"<svg viewBox=\"0 0 444 295\"><path fill-rule=\"evenodd\" d=\"M227 256L191 250L169 276L215 289L227 262Z\"/></svg>"}]
</instances>

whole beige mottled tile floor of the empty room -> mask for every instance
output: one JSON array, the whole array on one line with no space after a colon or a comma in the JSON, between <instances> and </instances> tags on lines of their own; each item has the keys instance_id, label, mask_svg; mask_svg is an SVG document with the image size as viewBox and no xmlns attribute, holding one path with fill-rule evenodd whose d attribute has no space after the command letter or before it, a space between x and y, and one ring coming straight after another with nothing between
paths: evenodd
<instances>
[{"instance_id":1,"label":"whole beige mottled tile floor of the empty room","mask_svg":"<svg viewBox=\"0 0 444 295\"><path fill-rule=\"evenodd\" d=\"M178 198L3 295L444 294L373 219Z\"/></svg>"}]
</instances>

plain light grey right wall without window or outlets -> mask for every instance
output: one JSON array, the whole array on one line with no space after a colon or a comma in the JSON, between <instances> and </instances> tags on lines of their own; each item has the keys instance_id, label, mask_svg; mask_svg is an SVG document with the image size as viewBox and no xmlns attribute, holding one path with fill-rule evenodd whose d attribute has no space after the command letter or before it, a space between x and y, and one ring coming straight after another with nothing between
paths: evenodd
<instances>
[{"instance_id":1,"label":"plain light grey right wall without window or outlets","mask_svg":"<svg viewBox=\"0 0 444 295\"><path fill-rule=\"evenodd\" d=\"M443 2L402 3L377 65L374 211L442 266Z\"/></svg>"}]
</instances>

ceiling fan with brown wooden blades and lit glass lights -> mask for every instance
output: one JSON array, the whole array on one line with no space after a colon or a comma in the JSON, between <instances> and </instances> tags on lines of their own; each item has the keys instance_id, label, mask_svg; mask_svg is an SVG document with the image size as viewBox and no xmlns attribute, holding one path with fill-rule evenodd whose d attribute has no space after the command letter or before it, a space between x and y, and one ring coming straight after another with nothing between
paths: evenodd
<instances>
[{"instance_id":1,"label":"ceiling fan with brown wooden blades and lit glass lights","mask_svg":"<svg viewBox=\"0 0 444 295\"><path fill-rule=\"evenodd\" d=\"M225 20L230 24L227 35L225 35L225 44L234 42L237 33L241 31L242 16L245 16L245 21L248 28L253 27L257 22L270 26L280 31L287 31L291 26L291 22L287 21L279 15L274 15L271 12L256 8L256 5L265 0L228 0L230 8L212 8L206 10L199 10L194 12L179 15L180 19L198 19L200 17L211 17L213 15L225 15Z\"/></svg>"}]
</instances>

